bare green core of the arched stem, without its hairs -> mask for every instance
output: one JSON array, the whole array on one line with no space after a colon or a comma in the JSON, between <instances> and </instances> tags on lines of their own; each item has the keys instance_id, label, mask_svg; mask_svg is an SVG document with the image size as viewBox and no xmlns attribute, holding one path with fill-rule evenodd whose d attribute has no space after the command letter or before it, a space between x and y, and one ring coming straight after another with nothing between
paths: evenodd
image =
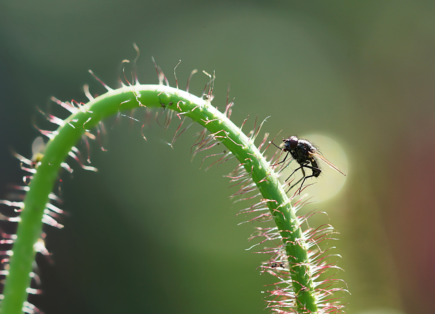
<instances>
[{"instance_id":1,"label":"bare green core of the arched stem, without its hairs","mask_svg":"<svg viewBox=\"0 0 435 314\"><path fill-rule=\"evenodd\" d=\"M18 224L17 240L13 245L13 255L10 258L4 299L1 301L1 313L22 312L23 302L27 299L26 288L30 283L29 273L32 271L32 261L35 256L33 245L41 235L41 218L48 202L48 195L57 180L60 163L64 162L71 147L80 139L85 129L96 126L101 119L114 115L118 111L141 105L166 106L167 109L182 112L206 127L211 133L216 133L228 150L244 164L244 168L251 173L263 198L273 200L268 202L268 206L274 215L278 229L281 230L284 242L287 242L286 251L294 291L301 291L304 287L310 289L303 294L298 294L298 307L302 313L317 312L315 293L307 269L309 267L307 250L300 241L301 228L278 178L254 143L250 142L248 137L208 100L168 86L135 85L110 90L88 102L80 112L64 120L64 126L60 126L54 138L47 143L20 215L21 221ZM307 263L306 266L304 263Z\"/></svg>"}]
</instances>

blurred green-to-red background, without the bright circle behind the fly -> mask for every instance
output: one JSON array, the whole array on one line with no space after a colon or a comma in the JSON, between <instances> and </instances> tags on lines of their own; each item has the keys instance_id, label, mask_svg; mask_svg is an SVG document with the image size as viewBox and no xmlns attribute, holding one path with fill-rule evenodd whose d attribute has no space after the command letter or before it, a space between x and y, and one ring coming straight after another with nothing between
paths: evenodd
<instances>
[{"instance_id":1,"label":"blurred green-to-red background, without the bright circle behind the fly","mask_svg":"<svg viewBox=\"0 0 435 314\"><path fill-rule=\"evenodd\" d=\"M433 1L3 1L0 197L24 175L9 148L30 157L33 122L53 129L36 106L65 118L50 96L85 102L84 84L104 93L88 69L117 87L136 42L141 83L157 83L154 56L174 86L181 59L183 88L192 69L216 71L214 106L231 83L236 124L271 116L263 131L273 136L339 143L345 185L310 208L331 218L311 225L341 233L346 312L433 313L434 15ZM206 82L195 74L191 92ZM46 314L264 312L272 278L255 268L267 258L244 251L252 227L237 226L242 207L231 208L235 190L222 177L237 164L198 170L206 154L190 162L190 147L200 128L173 150L165 142L176 127L154 122L145 142L139 122L121 119L107 152L93 145L98 173L69 160L70 215L62 230L44 227L53 263L37 257L44 294L32 300Z\"/></svg>"}]
</instances>

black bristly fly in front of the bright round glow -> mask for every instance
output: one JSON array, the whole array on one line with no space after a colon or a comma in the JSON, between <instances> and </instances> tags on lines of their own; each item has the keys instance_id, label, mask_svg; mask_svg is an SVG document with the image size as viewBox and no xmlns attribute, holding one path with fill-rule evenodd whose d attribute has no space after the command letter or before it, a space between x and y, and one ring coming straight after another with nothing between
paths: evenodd
<instances>
[{"instance_id":1,"label":"black bristly fly in front of the bright round glow","mask_svg":"<svg viewBox=\"0 0 435 314\"><path fill-rule=\"evenodd\" d=\"M297 185L299 182L302 181L301 187L299 188L299 194L301 194L302 186L304 185L305 180L311 177L317 178L320 175L322 171L318 165L318 158L326 162L328 166L330 166L332 169L335 169L338 172L340 172L342 175L345 175L343 172L340 171L340 169L337 168L337 166L335 166L332 162L330 162L328 159L323 157L323 155L321 155L321 153L319 152L318 148L309 140L298 139L296 136L290 136L288 139L283 139L282 141L284 142L284 148L282 149L277 145L275 145L274 143L270 142L276 147L278 147L279 149L281 149L283 152L287 152L287 155L285 155L284 160L282 162L278 162L275 165L279 165L285 162L289 153L291 157L293 157L293 159L300 165L300 167L298 169L295 169L284 182L287 182L288 179L294 174L294 172L298 171L299 169L301 169L303 175L298 182L290 186L288 191L290 191L295 185ZM311 169L313 174L305 175L304 168Z\"/></svg>"}]
</instances>

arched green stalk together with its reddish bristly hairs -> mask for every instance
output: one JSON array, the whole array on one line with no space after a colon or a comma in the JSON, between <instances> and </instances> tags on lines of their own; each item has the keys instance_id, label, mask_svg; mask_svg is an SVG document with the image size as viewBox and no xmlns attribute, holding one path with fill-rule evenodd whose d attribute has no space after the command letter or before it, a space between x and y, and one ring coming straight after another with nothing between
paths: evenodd
<instances>
[{"instance_id":1,"label":"arched green stalk together with its reddish bristly hairs","mask_svg":"<svg viewBox=\"0 0 435 314\"><path fill-rule=\"evenodd\" d=\"M171 146L177 137L188 128L188 126L184 128L176 137L185 117L189 117L204 126L204 130L197 133L198 138L192 146L193 155L210 149L218 143L224 144L228 151L224 152L224 156L213 164L227 161L230 154L234 155L240 162L236 169L228 175L231 183L241 181L234 184L240 184L240 187L238 192L232 196L241 195L244 197L257 189L261 193L262 198L257 204L242 210L239 214L258 212L261 214L248 221L273 220L276 223L276 227L257 228L258 233L251 237L251 239L264 237L265 240L260 243L271 241L274 244L271 248L261 250L262 253L271 255L269 261L261 265L261 271L271 273L279 280L275 284L275 289L269 291L273 299L268 301L268 307L271 307L276 313L340 311L342 305L334 304L329 300L325 301L325 297L329 296L335 289L319 287L333 283L334 280L327 279L316 282L322 272L328 268L336 267L334 264L327 264L326 257L323 255L325 250L322 250L318 245L325 236L335 231L329 225L320 229L308 228L302 231L301 225L306 221L306 218L297 217L296 212L303 206L303 203L298 205L297 202L295 205L291 205L296 194L291 198L287 197L283 186L278 181L278 174L274 171L275 167L271 167L271 164L273 165L279 159L279 155L275 159L278 152L275 152L268 162L264 156L264 151L269 146L263 152L259 150L264 145L268 134L264 136L259 149L254 145L265 119L258 127L255 122L254 129L246 136L241 131L246 120L239 128L229 119L233 102L228 104L228 97L224 113L211 105L214 75L212 79L211 75L206 73L210 76L210 82L207 83L203 93L206 99L202 99L202 97L199 98L178 88L169 87L166 76L157 65L156 71L159 85L140 85L136 82L134 85L129 83L129 86L111 89L97 78L107 88L107 93L94 98L90 95L88 87L85 86L85 94L90 100L86 104L61 102L58 99L53 99L60 106L69 110L71 115L65 120L47 115L47 119L58 124L59 128L56 131L40 130L43 135L50 139L43 150L43 155L38 155L32 160L25 159L21 155L17 156L22 162L30 166L30 168L22 167L31 172L28 177L33 176L31 184L23 188L27 190L24 202L7 203L8 201L2 201L5 205L19 208L16 211L21 213L16 217L5 215L0 217L7 221L19 221L17 235L14 238L12 235L7 235L14 241L13 254L11 251L3 252L4 255L10 255L10 261L9 271L0 273L8 273L3 292L4 299L1 301L1 313L37 312L37 309L26 301L28 292L38 292L29 288L29 274L30 276L33 274L32 262L35 253L39 251L42 254L48 254L44 247L43 238L41 238L41 221L58 228L62 227L55 220L56 215L62 211L50 202L50 200L55 199L51 191L57 180L60 167L69 172L73 171L64 161L70 155L79 162L82 168L96 171L95 168L83 164L80 152L74 147L74 144L81 136L84 136L88 146L87 139L96 139L96 136L90 131L92 128L97 128L98 138L100 132L104 131L102 119L141 106L146 106L147 110L152 107L163 107L164 110L170 112L164 123L165 128L171 122L173 113L178 112L177 117L181 123L171 143L168 143ZM90 73L93 74L92 71ZM191 75L193 73L194 71ZM163 81L166 81L167 86L163 85ZM207 86L208 93L205 93ZM147 111L147 116L148 118L151 116L149 111ZM156 118L158 118L157 114ZM131 119L134 118L131 117ZM208 132L210 133L207 134ZM101 149L104 150L102 145ZM208 155L205 158L214 155ZM87 161L89 162L89 157ZM251 199L257 195L259 194L244 197L241 200ZM268 212L263 212L266 210Z\"/></svg>"}]
</instances>

